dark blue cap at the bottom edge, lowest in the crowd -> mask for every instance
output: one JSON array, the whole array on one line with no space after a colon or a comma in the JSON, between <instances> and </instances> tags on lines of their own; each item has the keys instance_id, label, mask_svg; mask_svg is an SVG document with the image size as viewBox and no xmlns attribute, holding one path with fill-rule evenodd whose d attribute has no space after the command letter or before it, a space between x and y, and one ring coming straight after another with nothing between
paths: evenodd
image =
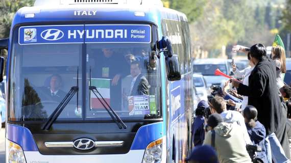
<instances>
[{"instance_id":1,"label":"dark blue cap at the bottom edge, lowest in the crowd","mask_svg":"<svg viewBox=\"0 0 291 163\"><path fill-rule=\"evenodd\" d=\"M219 163L216 151L209 145L195 147L186 161L198 161L201 163Z\"/></svg>"}]
</instances>

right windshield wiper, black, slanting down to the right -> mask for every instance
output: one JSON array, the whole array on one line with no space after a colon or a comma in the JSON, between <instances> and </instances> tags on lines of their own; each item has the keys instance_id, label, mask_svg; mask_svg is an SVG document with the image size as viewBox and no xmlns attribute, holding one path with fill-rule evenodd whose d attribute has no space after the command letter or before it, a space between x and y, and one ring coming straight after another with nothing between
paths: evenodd
<instances>
[{"instance_id":1,"label":"right windshield wiper, black, slanting down to the right","mask_svg":"<svg viewBox=\"0 0 291 163\"><path fill-rule=\"evenodd\" d=\"M108 112L108 114L110 115L110 117L113 119L113 121L117 124L117 126L119 127L119 129L122 129L122 127L124 129L126 129L126 127L127 127L126 124L122 121L122 119L120 119L120 117L116 114L116 112L110 107L110 105L106 102L106 100L101 95L101 93L97 90L97 88L95 86L91 86L91 68L90 68L90 86L89 86L89 90L94 93L94 95L96 96L96 98L99 100L99 102L106 109L106 111ZM99 94L99 96L101 97L102 100L100 99L100 97L98 97L98 95L96 93Z\"/></svg>"}]
</instances>

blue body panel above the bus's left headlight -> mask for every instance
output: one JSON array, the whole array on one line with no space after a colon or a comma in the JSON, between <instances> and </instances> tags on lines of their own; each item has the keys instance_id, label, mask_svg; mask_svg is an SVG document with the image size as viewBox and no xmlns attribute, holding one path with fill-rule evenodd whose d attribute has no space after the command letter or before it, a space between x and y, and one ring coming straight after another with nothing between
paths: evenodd
<instances>
[{"instance_id":1,"label":"blue body panel above the bus's left headlight","mask_svg":"<svg viewBox=\"0 0 291 163\"><path fill-rule=\"evenodd\" d=\"M23 151L38 151L30 130L26 127L7 124L7 139L21 146Z\"/></svg>"}]
</instances>

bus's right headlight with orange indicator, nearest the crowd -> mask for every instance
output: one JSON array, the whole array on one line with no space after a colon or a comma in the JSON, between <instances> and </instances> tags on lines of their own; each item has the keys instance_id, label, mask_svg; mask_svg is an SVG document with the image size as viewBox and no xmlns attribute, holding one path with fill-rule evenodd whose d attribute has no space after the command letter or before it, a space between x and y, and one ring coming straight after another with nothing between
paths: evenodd
<instances>
[{"instance_id":1,"label":"bus's right headlight with orange indicator, nearest the crowd","mask_svg":"<svg viewBox=\"0 0 291 163\"><path fill-rule=\"evenodd\" d=\"M163 140L158 139L150 143L144 152L142 163L159 163L162 159Z\"/></svg>"}]
</instances>

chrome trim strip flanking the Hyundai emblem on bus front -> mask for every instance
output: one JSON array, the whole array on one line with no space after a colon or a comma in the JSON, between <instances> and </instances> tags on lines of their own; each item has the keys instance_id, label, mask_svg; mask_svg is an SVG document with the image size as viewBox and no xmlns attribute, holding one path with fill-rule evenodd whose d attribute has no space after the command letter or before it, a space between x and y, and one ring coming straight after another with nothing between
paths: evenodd
<instances>
[{"instance_id":1,"label":"chrome trim strip flanking the Hyundai emblem on bus front","mask_svg":"<svg viewBox=\"0 0 291 163\"><path fill-rule=\"evenodd\" d=\"M95 147L122 147L124 141L96 141ZM45 142L47 148L74 147L73 142Z\"/></svg>"}]
</instances>

